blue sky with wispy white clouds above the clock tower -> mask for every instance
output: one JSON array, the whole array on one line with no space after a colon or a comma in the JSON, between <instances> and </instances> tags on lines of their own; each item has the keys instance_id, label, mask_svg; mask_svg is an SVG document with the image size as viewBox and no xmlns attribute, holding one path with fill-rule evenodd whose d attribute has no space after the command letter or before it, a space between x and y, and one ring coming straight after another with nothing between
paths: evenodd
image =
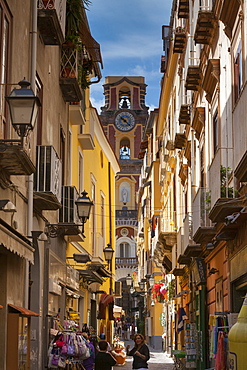
<instances>
[{"instance_id":1,"label":"blue sky with wispy white clouds above the clock tower","mask_svg":"<svg viewBox=\"0 0 247 370\"><path fill-rule=\"evenodd\" d=\"M143 76L146 105L158 107L162 25L168 25L172 0L91 0L87 12L91 34L100 44L102 80L91 86L91 102L100 113L106 76Z\"/></svg>"}]
</instances>

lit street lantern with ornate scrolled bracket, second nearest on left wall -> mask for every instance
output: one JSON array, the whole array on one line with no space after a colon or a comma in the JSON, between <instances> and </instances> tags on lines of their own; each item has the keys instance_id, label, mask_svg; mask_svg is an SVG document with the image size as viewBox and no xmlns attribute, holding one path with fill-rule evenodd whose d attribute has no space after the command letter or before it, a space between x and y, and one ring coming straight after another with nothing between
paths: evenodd
<instances>
[{"instance_id":1,"label":"lit street lantern with ornate scrolled bracket, second nearest on left wall","mask_svg":"<svg viewBox=\"0 0 247 370\"><path fill-rule=\"evenodd\" d=\"M75 201L77 206L77 213L78 217L81 220L81 224L74 224L74 223L60 223L60 224L47 224L46 225L46 233L50 238L57 238L60 235L65 234L65 230L71 227L82 227L82 235L84 235L84 224L87 222L90 216L91 208L93 206L93 202L87 196L87 192L84 190L81 193L81 196Z\"/></svg>"}]
</instances>

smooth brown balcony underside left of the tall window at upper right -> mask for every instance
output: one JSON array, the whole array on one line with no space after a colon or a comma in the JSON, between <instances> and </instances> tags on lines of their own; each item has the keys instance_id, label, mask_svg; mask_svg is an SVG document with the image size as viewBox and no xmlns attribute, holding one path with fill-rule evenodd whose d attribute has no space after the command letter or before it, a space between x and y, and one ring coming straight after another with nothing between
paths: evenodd
<instances>
[{"instance_id":1,"label":"smooth brown balcony underside left of the tall window at upper right","mask_svg":"<svg viewBox=\"0 0 247 370\"><path fill-rule=\"evenodd\" d=\"M220 59L209 59L202 88L206 92L206 99L211 103L215 88L220 80Z\"/></svg>"}]
</instances>

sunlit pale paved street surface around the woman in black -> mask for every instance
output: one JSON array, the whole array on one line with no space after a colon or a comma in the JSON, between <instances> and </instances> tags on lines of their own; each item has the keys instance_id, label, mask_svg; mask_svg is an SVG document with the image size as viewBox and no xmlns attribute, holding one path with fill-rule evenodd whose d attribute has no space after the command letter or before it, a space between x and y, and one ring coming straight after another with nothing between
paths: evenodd
<instances>
[{"instance_id":1,"label":"sunlit pale paved street surface around the woman in black","mask_svg":"<svg viewBox=\"0 0 247 370\"><path fill-rule=\"evenodd\" d=\"M125 341L125 345L130 344L130 349L133 348L133 340ZM157 352L152 347L150 349L150 360L148 361L149 370L172 370L173 360L167 356L164 352ZM127 356L127 360L124 365L114 366L114 370L131 370L132 369L133 357Z\"/></svg>"}]
</instances>

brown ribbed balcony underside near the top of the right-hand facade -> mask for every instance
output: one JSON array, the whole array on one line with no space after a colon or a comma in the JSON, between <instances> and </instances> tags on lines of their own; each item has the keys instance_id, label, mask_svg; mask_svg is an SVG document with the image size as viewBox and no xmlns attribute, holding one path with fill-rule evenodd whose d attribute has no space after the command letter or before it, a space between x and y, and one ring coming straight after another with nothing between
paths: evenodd
<instances>
[{"instance_id":1,"label":"brown ribbed balcony underside near the top of the right-hand facade","mask_svg":"<svg viewBox=\"0 0 247 370\"><path fill-rule=\"evenodd\" d=\"M214 13L210 10L200 10L198 12L194 41L196 44L209 45L215 29L217 21Z\"/></svg>"}]
</instances>

